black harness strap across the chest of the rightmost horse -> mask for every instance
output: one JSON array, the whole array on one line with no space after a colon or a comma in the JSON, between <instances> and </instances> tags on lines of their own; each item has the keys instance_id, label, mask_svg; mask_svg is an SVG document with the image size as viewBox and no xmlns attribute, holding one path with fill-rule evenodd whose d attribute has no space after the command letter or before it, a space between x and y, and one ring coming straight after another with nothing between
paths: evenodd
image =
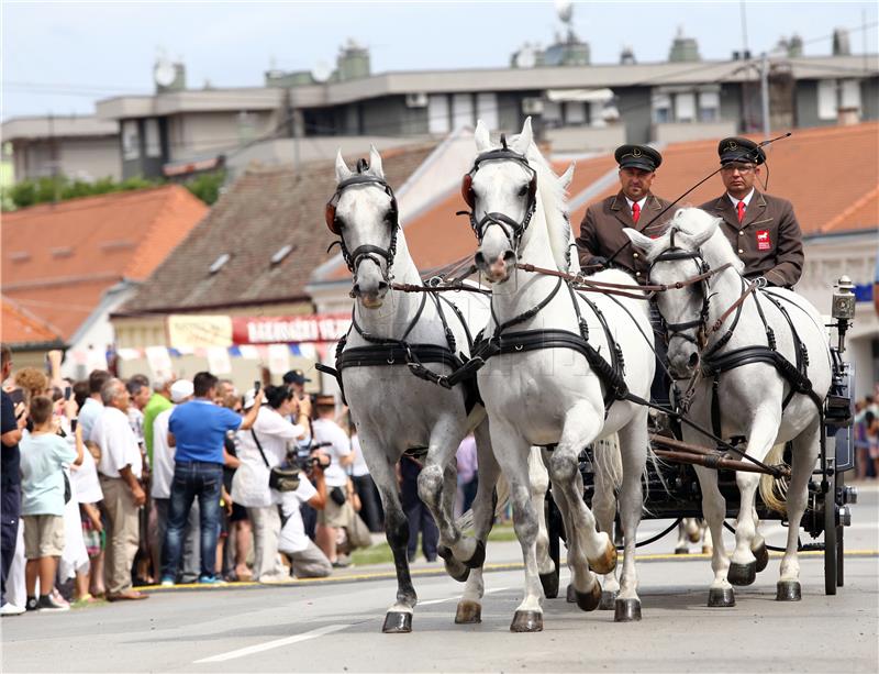
<instances>
[{"instance_id":1,"label":"black harness strap across the chest of the rightmost horse","mask_svg":"<svg viewBox=\"0 0 879 674\"><path fill-rule=\"evenodd\" d=\"M798 334L797 329L793 325L793 321L791 320L788 310L785 307L782 307L781 302L779 302L778 299L772 297L769 292L764 292L761 294L761 296L766 297L770 302L772 302L772 305L779 310L781 316L785 317L785 320L787 321L788 327L790 328L791 339L793 342L793 353L794 353L795 364L791 363L778 351L775 331L769 327L769 323L766 321L766 314L764 313L759 298L755 292L754 303L757 307L757 313L759 314L760 321L763 321L764 330L766 331L767 345L744 346L742 349L734 349L733 351L728 351L723 354L717 354L717 351L724 344L726 344L726 342L728 342L730 338L732 338L732 333L735 330L736 324L738 323L738 317L741 314L741 307L739 307L739 311L736 312L733 325L731 325L727 333L724 334L723 338L721 338L721 340L717 341L717 343L709 351L709 353L702 356L703 373L705 375L713 376L712 396L711 396L711 426L714 434L717 437L720 437L721 434L721 427L722 427L720 397L719 397L720 377L723 373L735 369L736 367L742 367L744 365L753 365L755 363L765 363L767 365L771 365L788 383L788 385L790 386L790 390L788 391L788 395L785 396L785 400L781 402L782 412L785 411L785 409L787 409L791 399L797 394L809 396L809 398L817 407L819 412L821 412L821 410L823 409L821 398L812 388L812 382L809 379L808 376L809 351L806 350L803 342L800 340L800 335Z\"/></svg>"}]
</instances>

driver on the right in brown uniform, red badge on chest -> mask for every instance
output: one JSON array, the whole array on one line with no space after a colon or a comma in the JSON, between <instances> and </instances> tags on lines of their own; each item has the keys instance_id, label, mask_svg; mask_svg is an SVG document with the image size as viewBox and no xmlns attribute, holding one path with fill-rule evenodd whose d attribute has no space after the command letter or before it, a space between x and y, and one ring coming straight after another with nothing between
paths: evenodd
<instances>
[{"instance_id":1,"label":"driver on the right in brown uniform, red badge on chest","mask_svg":"<svg viewBox=\"0 0 879 674\"><path fill-rule=\"evenodd\" d=\"M803 242L790 201L754 188L766 161L747 139L731 137L717 146L726 194L703 203L703 211L723 219L721 231L745 263L745 276L761 285L792 287L803 270Z\"/></svg>"}]
</instances>

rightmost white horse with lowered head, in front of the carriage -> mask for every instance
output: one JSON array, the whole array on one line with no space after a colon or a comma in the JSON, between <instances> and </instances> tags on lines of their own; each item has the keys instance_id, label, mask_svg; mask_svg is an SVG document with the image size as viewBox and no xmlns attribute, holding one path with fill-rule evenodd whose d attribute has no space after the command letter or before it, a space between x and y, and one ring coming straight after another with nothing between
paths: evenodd
<instances>
[{"instance_id":1,"label":"rightmost white horse with lowered head, in front of the carriage","mask_svg":"<svg viewBox=\"0 0 879 674\"><path fill-rule=\"evenodd\" d=\"M774 460L767 455L774 445L783 448L786 442L792 442L792 473L787 495L788 541L781 560L777 598L797 600L800 598L797 557L800 520L806 505L809 477L819 455L821 408L832 377L827 336L815 308L795 292L780 288L755 292L737 312L733 311L721 329L710 330L742 297L747 285L742 276L744 265L719 230L719 222L699 209L688 208L675 214L668 231L659 239L648 239L634 230L626 230L626 234L647 254L652 263L652 283L674 284L693 277L702 272L702 263L714 270L730 265L712 276L704 287L696 284L659 294L659 310L672 328L668 360L676 378L696 376L696 395L688 413L693 422L702 428L712 428L714 376L705 368L716 369L717 364L723 364L715 408L721 412L721 438L744 435L747 454L770 462ZM668 254L669 251L672 254ZM732 325L735 327L727 338ZM799 386L792 387L775 365L759 356L757 362L752 357L750 364L733 368L727 368L728 364L724 363L724 358L754 355L755 345L768 346L770 339L777 342L778 354L789 363L798 363L802 354L798 358L791 327L808 352L805 361L811 394L803 393ZM752 351L739 351L748 349ZM770 351L766 349L761 353L768 355ZM702 368L702 376L693 375L697 367ZM687 426L683 427L683 439L693 444L706 442L704 435ZM755 512L760 477L756 473L736 473L741 504L731 562L722 542L726 509L717 488L717 474L704 467L697 466L696 469L702 487L702 511L714 540L714 582L709 592L709 606L733 606L735 594L731 583L753 583L756 572L768 560L766 544L757 531Z\"/></svg>"}]
</instances>

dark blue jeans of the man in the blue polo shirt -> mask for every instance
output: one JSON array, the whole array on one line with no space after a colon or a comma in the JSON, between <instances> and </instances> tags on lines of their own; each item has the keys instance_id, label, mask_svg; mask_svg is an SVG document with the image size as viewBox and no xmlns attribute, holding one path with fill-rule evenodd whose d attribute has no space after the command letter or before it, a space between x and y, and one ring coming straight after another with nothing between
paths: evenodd
<instances>
[{"instance_id":1,"label":"dark blue jeans of the man in the blue polo shirt","mask_svg":"<svg viewBox=\"0 0 879 674\"><path fill-rule=\"evenodd\" d=\"M220 487L223 466L201 461L179 462L174 466L168 529L162 550L162 577L174 578L180 566L183 533L192 500L199 497L201 576L212 578L216 562L216 537L220 532Z\"/></svg>"}]
</instances>

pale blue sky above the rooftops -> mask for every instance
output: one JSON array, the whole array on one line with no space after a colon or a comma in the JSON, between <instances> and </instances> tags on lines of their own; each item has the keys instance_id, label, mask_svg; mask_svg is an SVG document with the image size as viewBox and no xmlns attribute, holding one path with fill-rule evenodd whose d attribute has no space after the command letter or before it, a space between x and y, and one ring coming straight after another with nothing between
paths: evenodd
<instances>
[{"instance_id":1,"label":"pale blue sky above the rooftops","mask_svg":"<svg viewBox=\"0 0 879 674\"><path fill-rule=\"evenodd\" d=\"M743 10L744 5L744 10ZM94 102L152 93L160 53L181 59L187 85L258 87L271 65L334 65L348 38L369 47L372 73L505 67L525 42L560 30L549 2L80 2L3 0L0 117L91 114ZM799 34L806 55L831 53L836 26L853 53L879 52L876 2L576 2L574 27L592 63L661 62L680 29L702 58L742 49L744 12L752 53ZM866 34L865 34L866 33Z\"/></svg>"}]
</instances>

